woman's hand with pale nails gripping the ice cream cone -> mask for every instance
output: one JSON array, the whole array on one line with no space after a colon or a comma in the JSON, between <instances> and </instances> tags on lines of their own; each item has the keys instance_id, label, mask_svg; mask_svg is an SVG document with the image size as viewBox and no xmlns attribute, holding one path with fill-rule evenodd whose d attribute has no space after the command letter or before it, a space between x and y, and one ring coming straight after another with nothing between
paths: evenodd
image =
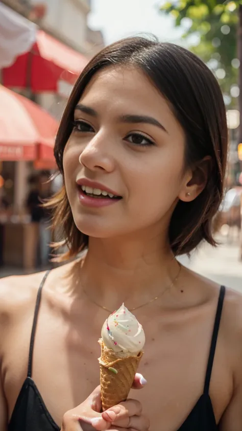
<instances>
[{"instance_id":1,"label":"woman's hand with pale nails gripping the ice cream cone","mask_svg":"<svg viewBox=\"0 0 242 431\"><path fill-rule=\"evenodd\" d=\"M135 375L133 389L143 388L146 380L141 374ZM61 431L122 431L129 428L135 431L148 431L150 421L142 415L139 401L128 399L101 413L100 386L78 407L65 413Z\"/></svg>"}]
</instances>

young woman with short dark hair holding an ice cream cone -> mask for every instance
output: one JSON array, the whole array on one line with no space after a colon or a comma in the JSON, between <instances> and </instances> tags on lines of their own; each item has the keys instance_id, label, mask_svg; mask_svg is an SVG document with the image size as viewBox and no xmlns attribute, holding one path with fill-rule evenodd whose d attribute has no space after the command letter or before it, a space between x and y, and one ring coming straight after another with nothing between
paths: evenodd
<instances>
[{"instance_id":1,"label":"young woman with short dark hair holding an ice cream cone","mask_svg":"<svg viewBox=\"0 0 242 431\"><path fill-rule=\"evenodd\" d=\"M226 155L221 90L196 56L135 37L90 61L55 145L69 262L1 281L1 431L241 431L241 297L176 260L214 244ZM147 384L101 413L98 338L123 302Z\"/></svg>"}]
</instances>

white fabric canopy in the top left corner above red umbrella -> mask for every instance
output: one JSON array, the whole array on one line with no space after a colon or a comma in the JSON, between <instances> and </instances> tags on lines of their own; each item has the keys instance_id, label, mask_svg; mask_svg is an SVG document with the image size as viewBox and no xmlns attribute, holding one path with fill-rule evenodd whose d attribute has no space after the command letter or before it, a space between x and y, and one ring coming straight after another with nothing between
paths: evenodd
<instances>
[{"instance_id":1,"label":"white fabric canopy in the top left corner above red umbrella","mask_svg":"<svg viewBox=\"0 0 242 431\"><path fill-rule=\"evenodd\" d=\"M0 2L0 69L28 52L36 41L37 26Z\"/></svg>"}]
</instances>

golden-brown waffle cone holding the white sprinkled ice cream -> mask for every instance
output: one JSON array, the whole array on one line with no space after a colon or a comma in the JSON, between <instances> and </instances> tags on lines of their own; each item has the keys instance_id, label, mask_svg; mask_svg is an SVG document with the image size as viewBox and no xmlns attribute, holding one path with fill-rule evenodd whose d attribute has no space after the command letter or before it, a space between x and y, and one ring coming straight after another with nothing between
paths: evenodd
<instances>
[{"instance_id":1,"label":"golden-brown waffle cone holding the white sprinkled ice cream","mask_svg":"<svg viewBox=\"0 0 242 431\"><path fill-rule=\"evenodd\" d=\"M127 399L143 352L139 352L137 356L124 355L105 347L102 339L99 344L101 399L105 411ZM110 367L116 370L117 374L109 370Z\"/></svg>"}]
</instances>

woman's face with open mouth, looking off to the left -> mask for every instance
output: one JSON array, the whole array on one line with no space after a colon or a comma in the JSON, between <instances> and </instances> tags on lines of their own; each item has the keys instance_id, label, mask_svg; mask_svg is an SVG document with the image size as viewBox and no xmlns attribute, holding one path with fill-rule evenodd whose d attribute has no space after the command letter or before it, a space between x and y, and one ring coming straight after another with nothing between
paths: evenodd
<instances>
[{"instance_id":1,"label":"woman's face with open mouth, looking off to the left","mask_svg":"<svg viewBox=\"0 0 242 431\"><path fill-rule=\"evenodd\" d=\"M135 68L110 67L92 78L74 117L63 166L77 228L99 238L167 231L186 182L185 137L158 90Z\"/></svg>"}]
</instances>

